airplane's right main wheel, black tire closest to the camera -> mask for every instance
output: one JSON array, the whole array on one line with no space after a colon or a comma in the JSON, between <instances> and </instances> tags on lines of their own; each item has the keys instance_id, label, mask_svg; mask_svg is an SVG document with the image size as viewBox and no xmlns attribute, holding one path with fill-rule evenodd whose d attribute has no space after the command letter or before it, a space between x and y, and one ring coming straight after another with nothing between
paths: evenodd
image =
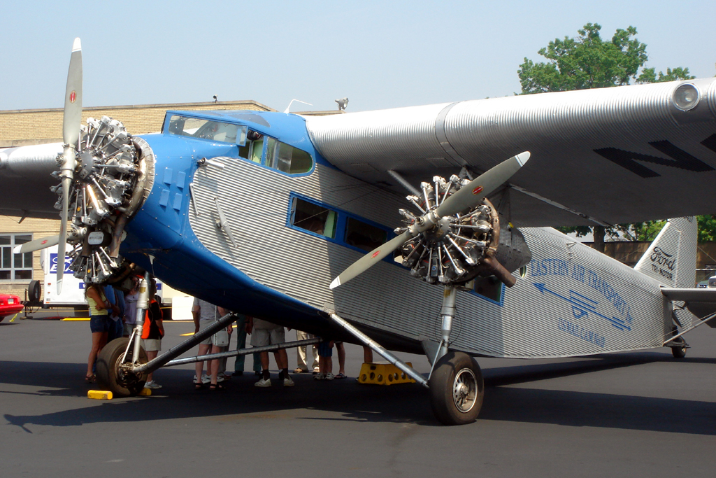
<instances>
[{"instance_id":1,"label":"airplane's right main wheel, black tire closest to the camera","mask_svg":"<svg viewBox=\"0 0 716 478\"><path fill-rule=\"evenodd\" d=\"M448 352L430 378L432 413L444 425L470 424L483 406L483 373L470 355Z\"/></svg>"}]
</instances>

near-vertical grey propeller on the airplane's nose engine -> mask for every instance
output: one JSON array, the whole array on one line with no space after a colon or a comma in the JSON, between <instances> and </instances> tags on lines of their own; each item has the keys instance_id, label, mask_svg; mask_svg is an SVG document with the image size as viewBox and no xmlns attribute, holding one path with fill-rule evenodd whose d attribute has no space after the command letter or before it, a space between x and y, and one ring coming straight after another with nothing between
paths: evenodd
<instances>
[{"instance_id":1,"label":"near-vertical grey propeller on the airplane's nose engine","mask_svg":"<svg viewBox=\"0 0 716 478\"><path fill-rule=\"evenodd\" d=\"M67 72L67 89L64 94L64 118L62 119L62 140L64 150L59 177L62 178L62 210L59 226L59 242L57 258L64 262L67 247L67 209L69 208L69 189L74 180L74 169L77 168L77 141L79 140L79 123L82 121L82 45L79 38L74 39L72 55L69 57ZM62 276L64 267L57 268L57 293L62 292Z\"/></svg>"}]
</instances>

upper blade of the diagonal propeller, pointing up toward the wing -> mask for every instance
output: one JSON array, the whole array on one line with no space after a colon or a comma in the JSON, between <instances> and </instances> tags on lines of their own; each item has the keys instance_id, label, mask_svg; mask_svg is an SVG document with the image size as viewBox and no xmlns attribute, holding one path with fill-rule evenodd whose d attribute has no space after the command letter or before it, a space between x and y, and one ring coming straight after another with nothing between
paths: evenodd
<instances>
[{"instance_id":1,"label":"upper blade of the diagonal propeller, pointing up toward the wing","mask_svg":"<svg viewBox=\"0 0 716 478\"><path fill-rule=\"evenodd\" d=\"M467 186L460 188L453 196L445 199L445 201L435 209L435 214L440 217L452 216L453 214L463 211L463 209L471 209L477 206L485 199L485 196L488 196L488 194L502 186L505 181L519 171L529 158L529 151L525 151L524 153L520 153L517 156L503 161L489 171L485 171L485 173L473 179Z\"/></svg>"}]
</instances>

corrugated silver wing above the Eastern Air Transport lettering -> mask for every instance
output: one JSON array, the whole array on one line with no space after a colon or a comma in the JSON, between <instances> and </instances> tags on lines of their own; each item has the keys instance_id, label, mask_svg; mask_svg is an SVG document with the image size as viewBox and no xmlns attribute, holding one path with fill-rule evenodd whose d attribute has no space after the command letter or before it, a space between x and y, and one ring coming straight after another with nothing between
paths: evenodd
<instances>
[{"instance_id":1,"label":"corrugated silver wing above the Eastern Air Transport lettering","mask_svg":"<svg viewBox=\"0 0 716 478\"><path fill-rule=\"evenodd\" d=\"M306 125L327 161L400 193L387 171L417 185L462 166L482 173L528 150L508 189L516 226L716 212L716 79L307 117Z\"/></svg>"}]
</instances>

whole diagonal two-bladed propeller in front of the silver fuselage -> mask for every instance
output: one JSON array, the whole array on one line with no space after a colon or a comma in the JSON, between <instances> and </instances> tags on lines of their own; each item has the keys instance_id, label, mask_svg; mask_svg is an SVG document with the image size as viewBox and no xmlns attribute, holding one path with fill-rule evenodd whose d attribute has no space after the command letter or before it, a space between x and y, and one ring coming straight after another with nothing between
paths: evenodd
<instances>
[{"instance_id":1,"label":"whole diagonal two-bladed propeller in front of the silver fuselage","mask_svg":"<svg viewBox=\"0 0 716 478\"><path fill-rule=\"evenodd\" d=\"M453 193L452 196L449 196L445 199L445 201L442 201L440 206L437 206L435 209L429 209L425 212L425 214L417 217L415 223L409 226L407 231L400 234L400 236L396 236L385 244L373 249L371 252L365 254L363 257L351 264L338 277L333 279L333 282L331 282L329 287L334 289L367 271L367 269L373 267L388 254L391 254L405 244L405 242L409 241L418 234L431 229L443 216L451 216L465 209L478 206L483 199L485 199L485 196L488 196L488 194L495 191L503 183L505 183L505 181L508 181L509 178L519 171L529 158L530 153L525 151L524 153L520 153L517 156L509 158L507 161L503 161L494 168L478 176L478 178L470 181L468 185L463 186L458 191Z\"/></svg>"}]
</instances>

